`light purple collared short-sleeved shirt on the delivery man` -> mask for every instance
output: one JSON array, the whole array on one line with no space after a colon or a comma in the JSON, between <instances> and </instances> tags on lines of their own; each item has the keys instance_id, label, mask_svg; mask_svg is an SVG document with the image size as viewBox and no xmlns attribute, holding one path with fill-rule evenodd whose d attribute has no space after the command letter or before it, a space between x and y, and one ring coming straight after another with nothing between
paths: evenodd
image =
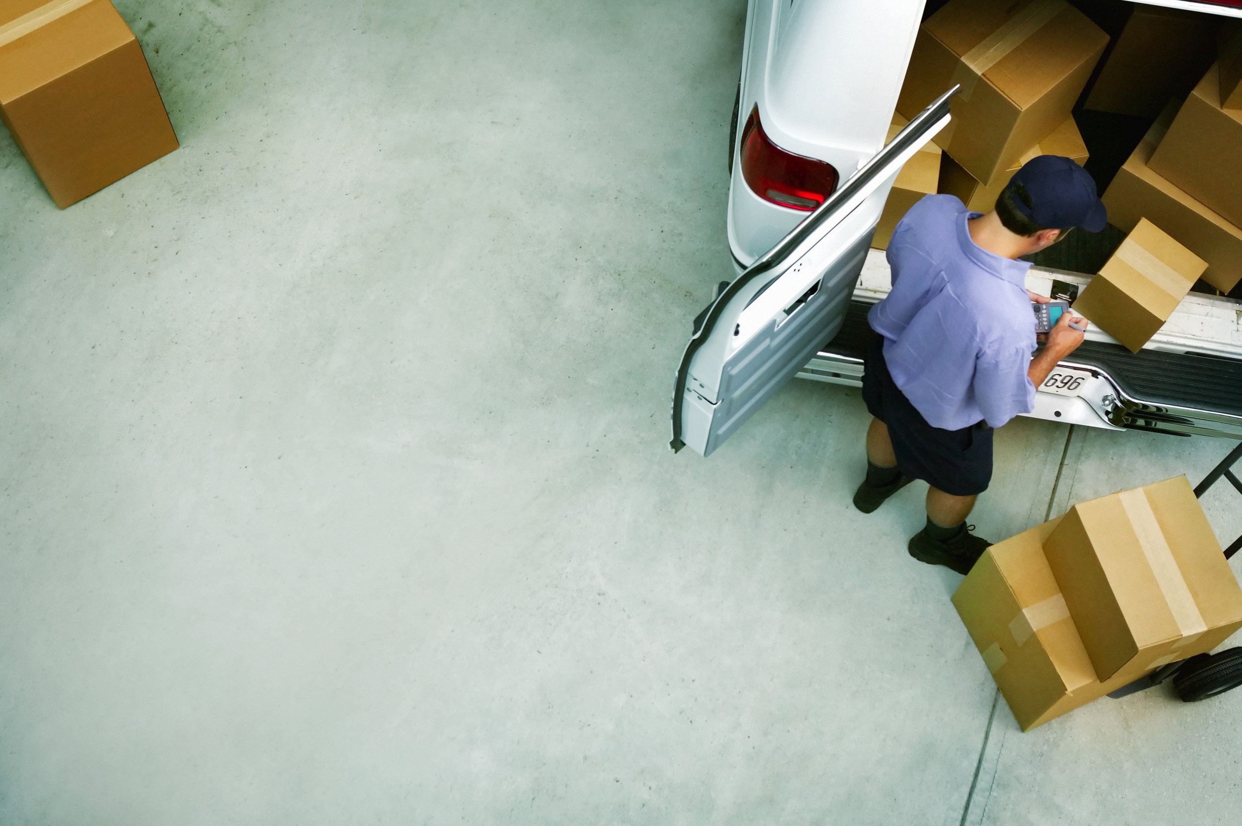
<instances>
[{"instance_id":1,"label":"light purple collared short-sleeved shirt on the delivery man","mask_svg":"<svg viewBox=\"0 0 1242 826\"><path fill-rule=\"evenodd\" d=\"M928 195L893 232L893 291L867 320L884 337L893 381L934 427L1000 427L1035 407L1026 373L1035 313L1031 265L977 246L953 195Z\"/></svg>"}]
</instances>

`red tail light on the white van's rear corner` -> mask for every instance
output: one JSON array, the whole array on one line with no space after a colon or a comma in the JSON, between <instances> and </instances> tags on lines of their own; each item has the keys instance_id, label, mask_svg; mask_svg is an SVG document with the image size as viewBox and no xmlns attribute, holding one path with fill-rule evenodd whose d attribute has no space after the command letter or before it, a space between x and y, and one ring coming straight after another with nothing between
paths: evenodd
<instances>
[{"instance_id":1,"label":"red tail light on the white van's rear corner","mask_svg":"<svg viewBox=\"0 0 1242 826\"><path fill-rule=\"evenodd\" d=\"M764 133L755 107L741 133L741 176L755 195L795 210L814 210L837 188L832 164L785 152Z\"/></svg>"}]
</instances>

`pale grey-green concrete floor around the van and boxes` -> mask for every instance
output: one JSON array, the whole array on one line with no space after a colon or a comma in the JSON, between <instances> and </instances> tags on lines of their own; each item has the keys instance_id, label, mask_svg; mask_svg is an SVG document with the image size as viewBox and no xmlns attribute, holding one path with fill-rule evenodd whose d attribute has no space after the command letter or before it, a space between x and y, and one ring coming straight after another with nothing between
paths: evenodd
<instances>
[{"instance_id":1,"label":"pale grey-green concrete floor around the van and boxes","mask_svg":"<svg viewBox=\"0 0 1242 826\"><path fill-rule=\"evenodd\" d=\"M0 822L1235 821L1242 692L1017 730L857 391L667 451L743 2L117 5L181 149L0 134ZM995 539L1230 447L997 440Z\"/></svg>"}]
</instances>

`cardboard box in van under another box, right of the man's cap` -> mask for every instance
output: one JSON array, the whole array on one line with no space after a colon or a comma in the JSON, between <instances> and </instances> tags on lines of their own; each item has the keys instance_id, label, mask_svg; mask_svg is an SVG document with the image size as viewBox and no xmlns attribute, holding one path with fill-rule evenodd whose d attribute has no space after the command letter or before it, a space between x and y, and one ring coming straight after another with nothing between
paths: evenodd
<instances>
[{"instance_id":1,"label":"cardboard box in van under another box, right of the man's cap","mask_svg":"<svg viewBox=\"0 0 1242 826\"><path fill-rule=\"evenodd\" d=\"M1170 112L1169 119L1171 120ZM1242 229L1207 209L1151 170L1148 161L1166 123L1151 127L1104 193L1108 221L1129 232L1141 219L1164 227L1207 262L1201 278L1223 293L1242 281Z\"/></svg>"}]
</instances>

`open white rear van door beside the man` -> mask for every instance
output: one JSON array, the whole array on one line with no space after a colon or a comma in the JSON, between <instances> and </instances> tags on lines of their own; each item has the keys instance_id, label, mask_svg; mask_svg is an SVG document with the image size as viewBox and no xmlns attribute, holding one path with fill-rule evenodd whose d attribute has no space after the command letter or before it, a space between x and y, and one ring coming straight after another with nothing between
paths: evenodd
<instances>
[{"instance_id":1,"label":"open white rear van door beside the man","mask_svg":"<svg viewBox=\"0 0 1242 826\"><path fill-rule=\"evenodd\" d=\"M949 124L945 92L708 308L673 389L673 438L708 456L841 329L902 164Z\"/></svg>"}]
</instances>

